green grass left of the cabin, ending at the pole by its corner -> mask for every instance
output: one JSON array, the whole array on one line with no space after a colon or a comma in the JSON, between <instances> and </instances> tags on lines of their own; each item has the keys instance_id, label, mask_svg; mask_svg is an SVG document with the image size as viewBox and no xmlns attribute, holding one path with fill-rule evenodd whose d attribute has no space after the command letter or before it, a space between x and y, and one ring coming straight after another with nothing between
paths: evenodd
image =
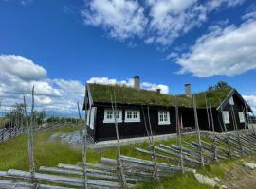
<instances>
[{"instance_id":1,"label":"green grass left of the cabin, ending at the pole by its corner","mask_svg":"<svg viewBox=\"0 0 256 189\"><path fill-rule=\"evenodd\" d=\"M49 137L55 132L70 132L78 127L70 126L61 129L52 129L36 133L34 138L35 164L38 168L42 165L56 166L58 163L77 163L81 160L82 153L78 149L71 149L60 142L50 142ZM8 142L0 143L0 169L28 170L27 136L18 136Z\"/></svg>"}]
</instances>

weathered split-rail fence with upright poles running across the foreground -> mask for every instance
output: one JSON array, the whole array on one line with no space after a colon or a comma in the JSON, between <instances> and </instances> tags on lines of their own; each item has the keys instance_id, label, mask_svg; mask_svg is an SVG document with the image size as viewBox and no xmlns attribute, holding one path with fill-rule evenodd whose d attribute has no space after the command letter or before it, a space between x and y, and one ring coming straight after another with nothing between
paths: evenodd
<instances>
[{"instance_id":1,"label":"weathered split-rail fence with upright poles running across the foreground","mask_svg":"<svg viewBox=\"0 0 256 189\"><path fill-rule=\"evenodd\" d=\"M111 96L112 109L117 111L116 96ZM26 103L25 103L26 104ZM26 106L25 106L26 107ZM156 181L161 185L160 179L168 177L177 172L195 172L198 167L205 166L209 163L217 163L226 159L237 159L252 155L256 152L256 134L255 130L249 129L252 122L247 119L246 128L243 132L239 131L234 125L235 132L227 132L224 123L224 133L217 134L214 132L213 122L210 127L208 136L201 136L197 117L196 101L193 96L194 119L196 128L196 138L192 141L186 141L182 138L178 106L176 105L176 144L159 144L155 143L151 120L149 116L149 106L147 112L148 120L145 121L145 129L148 135L148 147L134 150L141 153L147 158L135 158L121 154L119 145L118 122L115 117L115 128L117 134L117 151L118 157L110 159L101 157L99 163L88 163L86 160L86 128L82 125L82 162L77 164L59 163L57 167L41 166L36 172L33 160L33 130L31 124L28 126L28 153L29 153L29 171L13 170L0 171L0 187L6 188L135 188L136 183ZM78 104L78 110L80 110ZM33 112L33 111L31 111ZM114 113L116 114L116 113ZM81 114L79 111L79 116ZM30 129L29 129L30 127ZM157 145L156 145L157 144ZM11 179L11 180L9 180ZM17 181L15 181L17 180ZM23 180L22 182L19 180ZM47 183L47 185L46 185ZM55 186L62 184L63 186ZM4 187L4 188L5 188Z\"/></svg>"}]
</instances>

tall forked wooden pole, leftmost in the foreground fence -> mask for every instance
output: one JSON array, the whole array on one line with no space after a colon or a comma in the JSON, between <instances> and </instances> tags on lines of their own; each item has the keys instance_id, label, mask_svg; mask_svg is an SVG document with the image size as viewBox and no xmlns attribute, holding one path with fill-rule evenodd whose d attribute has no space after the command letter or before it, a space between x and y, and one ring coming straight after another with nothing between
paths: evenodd
<instances>
[{"instance_id":1,"label":"tall forked wooden pole, leftmost in the foreground fence","mask_svg":"<svg viewBox=\"0 0 256 189\"><path fill-rule=\"evenodd\" d=\"M34 86L32 89L32 107L30 112L30 123L28 123L27 119L27 104L25 96L24 99L24 112L26 116L26 125L27 125L27 150L28 150L28 158L29 158L29 170L30 170L30 181L32 184L32 188L37 188L37 183L35 180L35 163L34 163L34 153L33 153L33 131L32 131L32 124L33 124L33 111L34 111Z\"/></svg>"}]
</instances>

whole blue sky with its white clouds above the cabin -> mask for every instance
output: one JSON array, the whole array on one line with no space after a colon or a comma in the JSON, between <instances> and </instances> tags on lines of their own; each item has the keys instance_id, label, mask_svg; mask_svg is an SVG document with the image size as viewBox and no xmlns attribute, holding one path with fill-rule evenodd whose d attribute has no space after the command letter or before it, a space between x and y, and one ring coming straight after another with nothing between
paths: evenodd
<instances>
[{"instance_id":1,"label":"whole blue sky with its white clouds above the cabin","mask_svg":"<svg viewBox=\"0 0 256 189\"><path fill-rule=\"evenodd\" d=\"M38 104L69 101L70 111L86 81L129 85L139 75L144 88L169 94L224 80L256 106L252 0L0 0L0 25L6 103L36 82Z\"/></svg>"}]
</instances>

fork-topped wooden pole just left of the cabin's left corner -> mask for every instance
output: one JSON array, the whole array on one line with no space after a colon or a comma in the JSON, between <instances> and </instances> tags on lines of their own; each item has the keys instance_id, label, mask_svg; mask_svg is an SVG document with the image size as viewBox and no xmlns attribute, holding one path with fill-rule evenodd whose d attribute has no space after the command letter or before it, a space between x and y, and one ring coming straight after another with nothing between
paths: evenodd
<instances>
[{"instance_id":1,"label":"fork-topped wooden pole just left of the cabin's left corner","mask_svg":"<svg viewBox=\"0 0 256 189\"><path fill-rule=\"evenodd\" d=\"M80 112L80 106L79 106L79 102L77 102L77 106L78 106L78 114L79 114L79 120L82 124L82 116L81 116L81 112ZM85 113L86 114L86 113ZM86 120L87 122L87 120ZM87 189L88 188L88 184L87 184L87 174L86 174L86 131L85 129L87 128L86 126L86 122L85 125L82 124L82 171L83 171L83 189Z\"/></svg>"}]
</instances>

